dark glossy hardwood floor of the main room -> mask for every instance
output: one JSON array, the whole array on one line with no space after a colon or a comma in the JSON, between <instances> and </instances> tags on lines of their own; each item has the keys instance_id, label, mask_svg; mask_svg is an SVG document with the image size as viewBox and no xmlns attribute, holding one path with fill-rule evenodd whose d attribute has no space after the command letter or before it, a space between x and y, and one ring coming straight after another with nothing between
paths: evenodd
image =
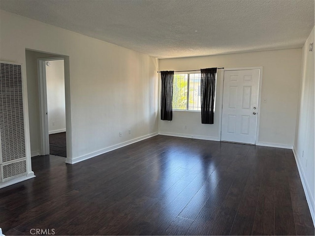
<instances>
[{"instance_id":1,"label":"dark glossy hardwood floor of the main room","mask_svg":"<svg viewBox=\"0 0 315 236\"><path fill-rule=\"evenodd\" d=\"M292 150L153 138L0 189L5 235L314 235Z\"/></svg>"}]
</instances>

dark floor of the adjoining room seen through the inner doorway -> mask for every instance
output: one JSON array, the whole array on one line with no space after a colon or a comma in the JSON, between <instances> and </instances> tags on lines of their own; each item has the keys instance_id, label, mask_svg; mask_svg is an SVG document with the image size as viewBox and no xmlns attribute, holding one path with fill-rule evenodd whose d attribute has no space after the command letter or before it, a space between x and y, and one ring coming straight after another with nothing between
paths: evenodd
<instances>
[{"instance_id":1,"label":"dark floor of the adjoining room seen through the inner doorway","mask_svg":"<svg viewBox=\"0 0 315 236\"><path fill-rule=\"evenodd\" d=\"M66 157L65 132L49 135L50 154Z\"/></svg>"}]
</instances>

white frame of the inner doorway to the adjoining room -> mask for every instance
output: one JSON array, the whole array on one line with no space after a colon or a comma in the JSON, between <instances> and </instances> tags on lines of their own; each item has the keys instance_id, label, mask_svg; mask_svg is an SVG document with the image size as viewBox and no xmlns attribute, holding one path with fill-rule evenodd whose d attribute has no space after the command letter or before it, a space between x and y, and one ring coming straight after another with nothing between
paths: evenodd
<instances>
[{"instance_id":1,"label":"white frame of the inner doorway to the adjoining room","mask_svg":"<svg viewBox=\"0 0 315 236\"><path fill-rule=\"evenodd\" d=\"M38 100L40 116L40 155L49 155L49 131L46 86L46 61L64 60L63 57L38 58ZM65 92L65 91L64 91ZM67 126L67 123L66 123Z\"/></svg>"}]
</instances>

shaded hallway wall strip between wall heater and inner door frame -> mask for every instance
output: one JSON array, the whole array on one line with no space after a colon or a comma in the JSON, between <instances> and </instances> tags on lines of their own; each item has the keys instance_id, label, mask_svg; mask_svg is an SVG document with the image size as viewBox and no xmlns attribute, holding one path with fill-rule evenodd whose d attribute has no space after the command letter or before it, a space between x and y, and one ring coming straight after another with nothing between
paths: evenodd
<instances>
[{"instance_id":1,"label":"shaded hallway wall strip between wall heater and inner door frame","mask_svg":"<svg viewBox=\"0 0 315 236\"><path fill-rule=\"evenodd\" d=\"M40 154L40 120L39 120L39 103L38 103L38 78L37 78L37 58L49 58L56 55L34 52L26 50L26 74L27 74L27 94L28 94L28 111L30 125L30 143L31 155Z\"/></svg>"}]
</instances>

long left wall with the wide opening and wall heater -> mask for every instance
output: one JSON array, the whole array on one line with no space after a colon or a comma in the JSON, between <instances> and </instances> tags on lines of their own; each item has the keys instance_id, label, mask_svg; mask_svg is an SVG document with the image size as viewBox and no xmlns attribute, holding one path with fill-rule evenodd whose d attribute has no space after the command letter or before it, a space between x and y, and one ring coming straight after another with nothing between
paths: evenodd
<instances>
[{"instance_id":1,"label":"long left wall with the wide opening and wall heater","mask_svg":"<svg viewBox=\"0 0 315 236\"><path fill-rule=\"evenodd\" d=\"M0 29L1 60L25 65L25 49L69 56L65 84L72 152L67 153L67 162L157 134L156 59L2 10ZM25 66L23 76L27 80ZM26 83L25 91L28 107ZM26 109L27 122L28 114ZM30 146L30 138L27 145Z\"/></svg>"}]
</instances>

